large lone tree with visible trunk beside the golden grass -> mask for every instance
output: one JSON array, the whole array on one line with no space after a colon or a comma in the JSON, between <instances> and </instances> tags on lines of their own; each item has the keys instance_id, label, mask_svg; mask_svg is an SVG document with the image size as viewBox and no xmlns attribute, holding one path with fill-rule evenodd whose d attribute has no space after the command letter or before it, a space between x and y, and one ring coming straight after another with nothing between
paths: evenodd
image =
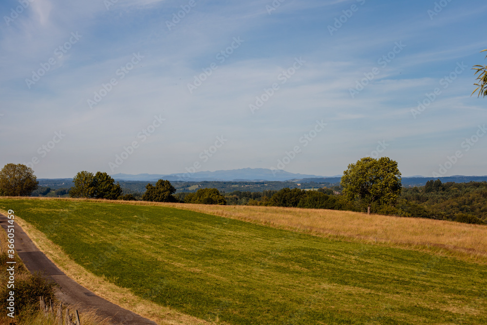
<instances>
[{"instance_id":1,"label":"large lone tree with visible trunk beside the golden grass","mask_svg":"<svg viewBox=\"0 0 487 325\"><path fill-rule=\"evenodd\" d=\"M388 157L365 157L348 165L341 186L349 200L361 199L370 214L372 203L393 204L401 193L401 173Z\"/></svg>"}]
</instances>

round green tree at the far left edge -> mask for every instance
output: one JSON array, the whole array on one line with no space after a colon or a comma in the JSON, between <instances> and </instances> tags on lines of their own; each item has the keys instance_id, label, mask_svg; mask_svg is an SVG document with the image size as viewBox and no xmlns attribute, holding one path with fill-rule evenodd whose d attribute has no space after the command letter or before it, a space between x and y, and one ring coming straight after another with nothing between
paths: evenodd
<instances>
[{"instance_id":1,"label":"round green tree at the far left edge","mask_svg":"<svg viewBox=\"0 0 487 325\"><path fill-rule=\"evenodd\" d=\"M6 164L0 171L0 193L6 196L28 196L37 189L32 168L22 164Z\"/></svg>"}]
</instances>

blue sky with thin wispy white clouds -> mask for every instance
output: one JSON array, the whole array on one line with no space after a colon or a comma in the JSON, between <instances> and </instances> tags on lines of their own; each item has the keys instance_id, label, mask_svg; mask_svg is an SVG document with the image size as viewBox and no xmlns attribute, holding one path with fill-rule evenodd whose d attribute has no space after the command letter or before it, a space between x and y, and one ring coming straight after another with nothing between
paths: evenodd
<instances>
[{"instance_id":1,"label":"blue sky with thin wispy white clouds","mask_svg":"<svg viewBox=\"0 0 487 325\"><path fill-rule=\"evenodd\" d=\"M4 0L0 167L487 175L485 0ZM486 136L484 136L486 135Z\"/></svg>"}]
</instances>

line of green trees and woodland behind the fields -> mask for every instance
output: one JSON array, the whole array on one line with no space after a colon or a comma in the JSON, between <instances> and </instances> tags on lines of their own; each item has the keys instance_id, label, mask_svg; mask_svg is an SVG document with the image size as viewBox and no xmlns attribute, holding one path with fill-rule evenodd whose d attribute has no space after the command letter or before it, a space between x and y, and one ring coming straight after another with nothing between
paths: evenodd
<instances>
[{"instance_id":1,"label":"line of green trees and woodland behind the fields","mask_svg":"<svg viewBox=\"0 0 487 325\"><path fill-rule=\"evenodd\" d=\"M148 183L143 194L124 193L106 172L82 171L73 178L71 189L56 191L74 198L350 210L487 224L487 182L443 184L437 179L428 181L424 187L403 188L400 176L397 163L388 157L365 157L348 166L341 187L333 190L284 188L225 193L215 188L200 188L196 192L176 193L169 180L160 179L155 185ZM0 195L31 195L36 188L36 176L24 165L8 164L0 171ZM45 194L50 189L37 191Z\"/></svg>"}]
</instances>

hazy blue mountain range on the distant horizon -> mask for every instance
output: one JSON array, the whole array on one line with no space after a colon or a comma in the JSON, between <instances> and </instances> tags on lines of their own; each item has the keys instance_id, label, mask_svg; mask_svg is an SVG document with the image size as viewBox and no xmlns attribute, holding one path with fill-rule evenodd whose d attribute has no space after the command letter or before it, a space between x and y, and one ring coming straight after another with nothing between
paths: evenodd
<instances>
[{"instance_id":1,"label":"hazy blue mountain range on the distant horizon","mask_svg":"<svg viewBox=\"0 0 487 325\"><path fill-rule=\"evenodd\" d=\"M202 182L202 181L287 181L290 179L303 178L329 178L326 176L295 174L292 172L285 172L282 170L272 171L263 168L243 168L230 171L216 171L216 172L193 172L193 173L177 173L177 174L114 174L111 175L115 180L125 181L148 181L154 182L159 179L167 179L169 181L187 181L187 182ZM341 177L341 175L331 176Z\"/></svg>"}]
</instances>

